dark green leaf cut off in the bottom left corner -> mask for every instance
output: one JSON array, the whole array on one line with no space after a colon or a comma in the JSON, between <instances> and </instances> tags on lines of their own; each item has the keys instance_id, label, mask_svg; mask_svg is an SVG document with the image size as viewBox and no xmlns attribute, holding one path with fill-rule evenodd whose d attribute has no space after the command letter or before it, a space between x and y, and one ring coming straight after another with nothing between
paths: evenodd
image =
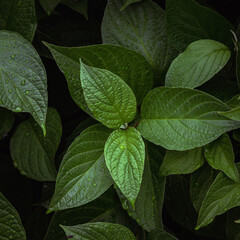
<instances>
[{"instance_id":1,"label":"dark green leaf cut off in the bottom left corner","mask_svg":"<svg viewBox=\"0 0 240 240\"><path fill-rule=\"evenodd\" d=\"M16 209L2 193L0 193L0 226L0 239L26 239L26 233Z\"/></svg>"}]
</instances>

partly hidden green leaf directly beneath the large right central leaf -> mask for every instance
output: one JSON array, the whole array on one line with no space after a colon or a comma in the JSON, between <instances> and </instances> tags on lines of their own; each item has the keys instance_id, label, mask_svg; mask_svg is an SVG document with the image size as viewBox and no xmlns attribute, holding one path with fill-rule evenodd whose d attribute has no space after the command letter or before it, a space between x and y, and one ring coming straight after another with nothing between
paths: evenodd
<instances>
[{"instance_id":1,"label":"partly hidden green leaf directly beneath the large right central leaf","mask_svg":"<svg viewBox=\"0 0 240 240\"><path fill-rule=\"evenodd\" d=\"M205 162L203 148L194 148L187 151L167 151L159 174L189 174L200 168Z\"/></svg>"}]
</instances>

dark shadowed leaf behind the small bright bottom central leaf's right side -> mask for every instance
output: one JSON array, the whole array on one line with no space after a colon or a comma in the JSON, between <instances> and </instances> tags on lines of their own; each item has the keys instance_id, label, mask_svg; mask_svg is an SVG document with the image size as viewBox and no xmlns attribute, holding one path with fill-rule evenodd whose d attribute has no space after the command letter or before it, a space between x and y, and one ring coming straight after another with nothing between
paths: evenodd
<instances>
[{"instance_id":1,"label":"dark shadowed leaf behind the small bright bottom central leaf's right side","mask_svg":"<svg viewBox=\"0 0 240 240\"><path fill-rule=\"evenodd\" d=\"M149 144L148 144L149 146ZM147 148L148 149L148 148ZM159 163L158 155L146 154L144 172L141 188L135 202L135 209L126 197L118 191L122 207L129 216L146 231L150 232L156 228L162 228L162 206L165 191L165 178L158 177Z\"/></svg>"}]
</instances>

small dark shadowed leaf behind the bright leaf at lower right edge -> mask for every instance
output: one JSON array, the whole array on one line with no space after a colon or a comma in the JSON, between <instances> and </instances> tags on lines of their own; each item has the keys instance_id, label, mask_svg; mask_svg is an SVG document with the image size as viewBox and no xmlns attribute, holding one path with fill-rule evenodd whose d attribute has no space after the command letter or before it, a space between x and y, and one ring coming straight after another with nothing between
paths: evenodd
<instances>
[{"instance_id":1,"label":"small dark shadowed leaf behind the bright leaf at lower right edge","mask_svg":"<svg viewBox=\"0 0 240 240\"><path fill-rule=\"evenodd\" d=\"M190 179L190 196L192 204L197 212L202 205L207 191L213 183L217 171L205 164L202 168L191 174Z\"/></svg>"}]
</instances>

